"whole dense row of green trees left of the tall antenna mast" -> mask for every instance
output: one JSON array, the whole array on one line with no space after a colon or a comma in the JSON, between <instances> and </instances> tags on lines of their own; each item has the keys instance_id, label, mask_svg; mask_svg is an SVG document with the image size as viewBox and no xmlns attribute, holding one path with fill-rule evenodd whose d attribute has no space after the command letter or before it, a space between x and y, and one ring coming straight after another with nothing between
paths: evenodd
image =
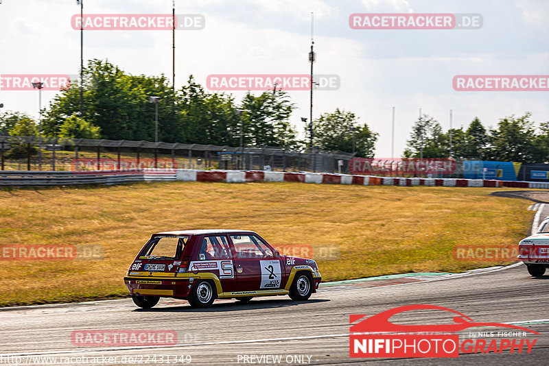
<instances>
[{"instance_id":1,"label":"whole dense row of green trees left of the tall antenna mast","mask_svg":"<svg viewBox=\"0 0 549 366\"><path fill-rule=\"evenodd\" d=\"M174 90L164 75L129 75L107 60L90 60L82 82L83 116L80 85L73 83L49 104L43 118L46 136L73 134L74 130L67 132L68 127L62 125L78 115L90 126L99 127L101 138L154 141L155 108L149 97L155 96L160 97L159 141L238 146L243 124L245 144L298 144L289 122L294 104L287 93L276 88L257 97L248 93L238 107L246 111L241 123L232 95L207 93L192 75L185 86Z\"/></svg>"}]
</instances>

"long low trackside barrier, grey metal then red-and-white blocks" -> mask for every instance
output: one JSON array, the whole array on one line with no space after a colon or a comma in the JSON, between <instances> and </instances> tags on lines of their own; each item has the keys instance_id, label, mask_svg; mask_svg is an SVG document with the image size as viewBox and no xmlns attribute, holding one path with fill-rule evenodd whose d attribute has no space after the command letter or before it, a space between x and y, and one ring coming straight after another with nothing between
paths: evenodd
<instances>
[{"instance_id":1,"label":"long low trackside barrier, grey metal then red-and-white blocks","mask_svg":"<svg viewBox=\"0 0 549 366\"><path fill-rule=\"evenodd\" d=\"M301 182L361 186L513 187L549 189L549 182L510 182L456 178L387 178L371 175L284 171L205 171L191 169L135 169L128 171L0 171L0 186L78 186L133 182Z\"/></svg>"}]
</instances>

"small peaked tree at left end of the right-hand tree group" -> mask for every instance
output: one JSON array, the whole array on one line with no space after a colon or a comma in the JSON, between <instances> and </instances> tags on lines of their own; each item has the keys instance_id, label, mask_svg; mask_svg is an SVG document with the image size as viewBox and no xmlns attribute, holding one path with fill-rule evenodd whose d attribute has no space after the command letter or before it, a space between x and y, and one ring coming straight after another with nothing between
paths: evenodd
<instances>
[{"instance_id":1,"label":"small peaked tree at left end of the right-hand tree group","mask_svg":"<svg viewBox=\"0 0 549 366\"><path fill-rule=\"evenodd\" d=\"M443 134L439 122L427 114L414 122L406 144L405 158L447 158L449 154L447 134Z\"/></svg>"}]
</instances>

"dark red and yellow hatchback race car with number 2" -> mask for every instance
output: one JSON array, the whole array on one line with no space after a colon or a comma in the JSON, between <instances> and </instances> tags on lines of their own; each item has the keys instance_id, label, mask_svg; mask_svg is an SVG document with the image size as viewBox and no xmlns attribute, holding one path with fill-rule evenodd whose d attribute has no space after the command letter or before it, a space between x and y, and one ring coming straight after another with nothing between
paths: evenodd
<instances>
[{"instance_id":1,"label":"dark red and yellow hatchback race car with number 2","mask_svg":"<svg viewBox=\"0 0 549 366\"><path fill-rule=\"evenodd\" d=\"M283 256L253 231L181 230L153 234L124 282L141 308L152 308L160 297L203 308L215 298L307 300L321 279L314 260Z\"/></svg>"}]
</instances>

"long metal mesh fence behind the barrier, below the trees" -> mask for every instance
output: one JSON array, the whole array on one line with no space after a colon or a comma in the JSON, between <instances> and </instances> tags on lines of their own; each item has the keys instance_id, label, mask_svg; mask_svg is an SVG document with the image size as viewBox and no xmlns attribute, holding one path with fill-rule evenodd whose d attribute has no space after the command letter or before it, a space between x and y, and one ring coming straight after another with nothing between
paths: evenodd
<instances>
[{"instance_id":1,"label":"long metal mesh fence behind the barrier, below the trees","mask_svg":"<svg viewBox=\"0 0 549 366\"><path fill-rule=\"evenodd\" d=\"M40 146L40 149L38 149ZM150 141L1 136L1 170L246 169L348 173L353 154Z\"/></svg>"}]
</instances>

